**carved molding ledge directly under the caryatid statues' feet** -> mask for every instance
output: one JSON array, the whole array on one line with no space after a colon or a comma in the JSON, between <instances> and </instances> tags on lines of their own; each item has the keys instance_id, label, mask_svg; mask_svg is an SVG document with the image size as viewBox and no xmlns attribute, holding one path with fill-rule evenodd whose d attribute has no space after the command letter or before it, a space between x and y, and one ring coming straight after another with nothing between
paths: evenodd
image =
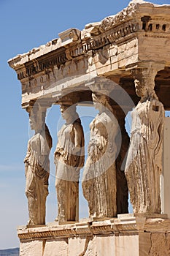
<instances>
[{"instance_id":1,"label":"carved molding ledge directly under the caryatid statues' feet","mask_svg":"<svg viewBox=\"0 0 170 256\"><path fill-rule=\"evenodd\" d=\"M153 217L134 217L133 214L121 214L118 219L98 222L77 222L68 225L58 225L58 222L52 222L44 227L18 227L18 237L20 241L28 241L144 231L170 233L170 219L165 218L165 214L162 214L162 217L161 214L158 217L154 215Z\"/></svg>"}]
</instances>

